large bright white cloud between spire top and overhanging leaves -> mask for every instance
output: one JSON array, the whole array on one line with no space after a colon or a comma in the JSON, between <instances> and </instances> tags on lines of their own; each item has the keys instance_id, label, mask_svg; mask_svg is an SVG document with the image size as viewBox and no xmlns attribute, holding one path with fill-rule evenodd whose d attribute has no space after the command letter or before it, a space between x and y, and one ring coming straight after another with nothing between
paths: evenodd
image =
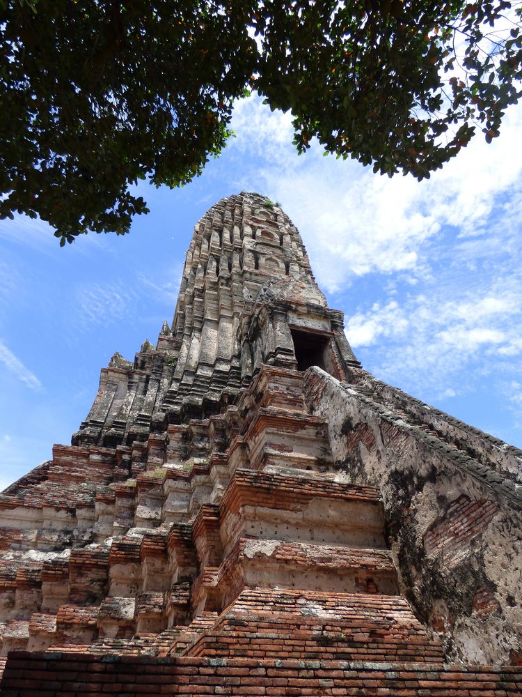
<instances>
[{"instance_id":1,"label":"large bright white cloud between spire top and overhanging leaves","mask_svg":"<svg viewBox=\"0 0 522 697\"><path fill-rule=\"evenodd\" d=\"M297 158L290 115L271 113L259 98L239 103L232 126L238 134L235 151L265 155L264 164L243 177L242 187L281 202L328 291L369 273L408 272L413 282L423 277L429 273L429 254L440 254L434 245L444 226L458 229L457 253L473 263L484 247L493 251L486 237L492 226L507 245L520 224L509 209L516 201L521 207L522 159L514 157L521 107L508 109L500 138L488 145L477 135L422 183L411 176L374 176L355 162L323 158L318 146ZM500 200L504 194L507 201ZM473 244L466 246L468 240Z\"/></svg>"}]
</instances>

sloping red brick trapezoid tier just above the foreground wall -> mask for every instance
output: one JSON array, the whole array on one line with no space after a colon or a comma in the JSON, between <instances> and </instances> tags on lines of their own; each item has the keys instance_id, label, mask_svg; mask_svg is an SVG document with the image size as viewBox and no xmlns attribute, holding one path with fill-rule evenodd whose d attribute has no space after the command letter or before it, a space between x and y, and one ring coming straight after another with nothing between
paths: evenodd
<instances>
[{"instance_id":1,"label":"sloping red brick trapezoid tier just above the foreground wall","mask_svg":"<svg viewBox=\"0 0 522 697\"><path fill-rule=\"evenodd\" d=\"M334 600L323 593L294 592L285 594L293 604L286 602L279 611L280 595L267 589L243 591L187 655L443 661L440 643L429 639L400 597L387 596L379 603L367 594L338 594Z\"/></svg>"}]
</instances>

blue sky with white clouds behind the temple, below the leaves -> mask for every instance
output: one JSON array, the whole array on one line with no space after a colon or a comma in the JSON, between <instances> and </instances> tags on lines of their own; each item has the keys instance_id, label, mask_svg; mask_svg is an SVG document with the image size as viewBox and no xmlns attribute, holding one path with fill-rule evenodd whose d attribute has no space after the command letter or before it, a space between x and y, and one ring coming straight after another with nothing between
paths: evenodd
<instances>
[{"instance_id":1,"label":"blue sky with white clouds behind the temple, below the leaves","mask_svg":"<svg viewBox=\"0 0 522 697\"><path fill-rule=\"evenodd\" d=\"M69 443L100 368L172 320L193 226L241 190L278 201L363 365L522 446L522 105L429 181L296 155L290 116L250 98L237 137L187 187L143 185L125 237L58 247L39 221L0 222L0 487Z\"/></svg>"}]
</instances>

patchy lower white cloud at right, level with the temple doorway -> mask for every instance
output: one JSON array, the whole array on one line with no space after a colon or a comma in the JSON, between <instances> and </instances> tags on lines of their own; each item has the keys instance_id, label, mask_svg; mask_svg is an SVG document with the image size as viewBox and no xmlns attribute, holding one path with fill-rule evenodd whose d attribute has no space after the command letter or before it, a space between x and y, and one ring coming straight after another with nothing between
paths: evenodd
<instances>
[{"instance_id":1,"label":"patchy lower white cloud at right, level with the temple doorway","mask_svg":"<svg viewBox=\"0 0 522 697\"><path fill-rule=\"evenodd\" d=\"M498 278L486 288L460 282L439 278L425 285L429 292L359 309L347 318L350 344L372 346L369 367L382 378L410 390L429 385L439 397L454 396L448 384L515 370L514 360L522 360L522 278Z\"/></svg>"}]
</instances>

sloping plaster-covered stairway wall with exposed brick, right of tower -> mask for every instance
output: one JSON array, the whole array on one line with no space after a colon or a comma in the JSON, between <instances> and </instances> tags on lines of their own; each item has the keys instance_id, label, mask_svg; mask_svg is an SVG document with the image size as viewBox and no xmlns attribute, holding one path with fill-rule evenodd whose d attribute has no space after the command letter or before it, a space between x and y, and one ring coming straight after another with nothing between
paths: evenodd
<instances>
[{"instance_id":1,"label":"sloping plaster-covered stairway wall with exposed brick, right of tower","mask_svg":"<svg viewBox=\"0 0 522 697\"><path fill-rule=\"evenodd\" d=\"M409 410L404 392L394 401L395 388L366 376L353 369L351 382L340 383L315 367L305 374L308 406L329 422L340 476L381 491L401 591L448 657L518 663L522 488L502 474L514 468L516 449L482 434L480 450L480 431L470 429L473 450L461 450L464 436L451 436L464 424L448 417L443 429L437 412L436 431L413 417L418 400Z\"/></svg>"}]
</instances>

